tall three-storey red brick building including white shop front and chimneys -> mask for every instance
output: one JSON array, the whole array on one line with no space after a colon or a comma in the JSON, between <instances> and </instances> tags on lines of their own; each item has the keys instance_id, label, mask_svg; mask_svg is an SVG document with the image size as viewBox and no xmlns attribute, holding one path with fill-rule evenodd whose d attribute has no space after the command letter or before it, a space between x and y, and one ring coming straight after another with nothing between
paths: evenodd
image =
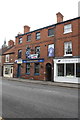
<instances>
[{"instance_id":1,"label":"tall three-storey red brick building including white shop front and chimneys","mask_svg":"<svg viewBox=\"0 0 80 120\"><path fill-rule=\"evenodd\" d=\"M24 26L15 40L14 77L78 82L80 78L80 17L34 31Z\"/></svg>"}]
</instances>

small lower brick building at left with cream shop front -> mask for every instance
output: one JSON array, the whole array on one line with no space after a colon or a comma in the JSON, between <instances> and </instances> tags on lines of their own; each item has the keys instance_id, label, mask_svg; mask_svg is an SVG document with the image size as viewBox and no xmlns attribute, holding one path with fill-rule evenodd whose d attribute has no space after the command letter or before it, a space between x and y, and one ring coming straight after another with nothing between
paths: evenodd
<instances>
[{"instance_id":1,"label":"small lower brick building at left with cream shop front","mask_svg":"<svg viewBox=\"0 0 80 120\"><path fill-rule=\"evenodd\" d=\"M3 66L3 76L13 77L13 67L15 61L15 45L14 41L10 40L8 42L7 50L2 54L2 66Z\"/></svg>"}]
</instances>

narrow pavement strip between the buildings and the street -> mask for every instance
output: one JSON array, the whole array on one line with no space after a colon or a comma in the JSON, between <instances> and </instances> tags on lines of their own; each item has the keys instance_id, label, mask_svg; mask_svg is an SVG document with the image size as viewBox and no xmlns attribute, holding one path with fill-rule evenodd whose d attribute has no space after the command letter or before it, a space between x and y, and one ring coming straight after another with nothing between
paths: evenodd
<instances>
[{"instance_id":1,"label":"narrow pavement strip between the buildings and the street","mask_svg":"<svg viewBox=\"0 0 80 120\"><path fill-rule=\"evenodd\" d=\"M60 83L60 82L50 82L50 81L42 81L42 80L29 80L29 79L22 79L22 78L4 78L3 80L10 80L10 81L18 81L18 82L26 82L26 83L34 83L34 84L41 84L41 85L51 85L51 86L60 86L60 87L68 87L68 88L79 88L80 84L77 83Z\"/></svg>"}]
</instances>

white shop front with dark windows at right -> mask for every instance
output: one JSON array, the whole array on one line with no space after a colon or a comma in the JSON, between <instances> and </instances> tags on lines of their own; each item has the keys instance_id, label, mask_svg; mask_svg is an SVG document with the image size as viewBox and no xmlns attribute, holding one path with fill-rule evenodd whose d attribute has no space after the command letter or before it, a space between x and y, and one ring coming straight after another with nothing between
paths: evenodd
<instances>
[{"instance_id":1,"label":"white shop front with dark windows at right","mask_svg":"<svg viewBox=\"0 0 80 120\"><path fill-rule=\"evenodd\" d=\"M80 83L80 58L55 58L54 81Z\"/></svg>"}]
</instances>

